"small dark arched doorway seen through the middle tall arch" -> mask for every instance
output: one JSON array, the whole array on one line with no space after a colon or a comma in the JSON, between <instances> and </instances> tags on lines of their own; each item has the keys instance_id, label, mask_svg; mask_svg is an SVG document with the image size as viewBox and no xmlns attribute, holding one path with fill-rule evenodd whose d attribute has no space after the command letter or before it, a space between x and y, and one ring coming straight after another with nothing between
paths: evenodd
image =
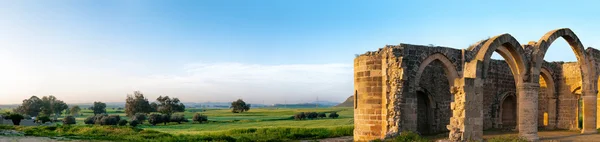
<instances>
[{"instance_id":1,"label":"small dark arched doorway seen through the middle tall arch","mask_svg":"<svg viewBox=\"0 0 600 142\"><path fill-rule=\"evenodd\" d=\"M508 94L502 100L502 128L513 130L517 127L517 99Z\"/></svg>"}]
</instances>

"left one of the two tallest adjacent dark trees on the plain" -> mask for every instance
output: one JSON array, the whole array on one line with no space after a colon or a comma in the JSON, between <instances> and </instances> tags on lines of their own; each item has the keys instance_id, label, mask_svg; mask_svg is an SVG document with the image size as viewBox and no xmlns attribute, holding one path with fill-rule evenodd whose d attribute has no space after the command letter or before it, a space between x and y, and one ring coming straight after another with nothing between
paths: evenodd
<instances>
[{"instance_id":1,"label":"left one of the two tallest adjacent dark trees on the plain","mask_svg":"<svg viewBox=\"0 0 600 142\"><path fill-rule=\"evenodd\" d=\"M136 113L149 113L151 111L148 99L140 91L134 91L133 95L127 95L125 100L125 113L127 116L133 116Z\"/></svg>"}]
</instances>

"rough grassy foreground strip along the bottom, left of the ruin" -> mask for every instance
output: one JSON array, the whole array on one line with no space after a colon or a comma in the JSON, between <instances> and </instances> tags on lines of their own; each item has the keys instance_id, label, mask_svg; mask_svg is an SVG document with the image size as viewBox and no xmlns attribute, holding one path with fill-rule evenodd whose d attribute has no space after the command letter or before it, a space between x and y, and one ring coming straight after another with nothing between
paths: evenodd
<instances>
[{"instance_id":1,"label":"rough grassy foreground strip along the bottom, left of the ruin","mask_svg":"<svg viewBox=\"0 0 600 142\"><path fill-rule=\"evenodd\" d=\"M63 125L9 127L27 136L65 137L70 139L108 141L292 141L351 136L353 127L334 128L245 128L206 135L168 134L135 127Z\"/></svg>"}]
</instances>

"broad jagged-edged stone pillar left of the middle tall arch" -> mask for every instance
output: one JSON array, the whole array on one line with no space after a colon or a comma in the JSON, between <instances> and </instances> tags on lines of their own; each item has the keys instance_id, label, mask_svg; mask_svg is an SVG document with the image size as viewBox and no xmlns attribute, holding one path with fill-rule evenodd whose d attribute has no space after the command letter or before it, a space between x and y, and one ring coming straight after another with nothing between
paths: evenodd
<instances>
[{"instance_id":1,"label":"broad jagged-edged stone pillar left of the middle tall arch","mask_svg":"<svg viewBox=\"0 0 600 142\"><path fill-rule=\"evenodd\" d=\"M483 138L483 82L463 78L452 88L454 102L452 117L447 126L451 141L481 141Z\"/></svg>"}]
</instances>

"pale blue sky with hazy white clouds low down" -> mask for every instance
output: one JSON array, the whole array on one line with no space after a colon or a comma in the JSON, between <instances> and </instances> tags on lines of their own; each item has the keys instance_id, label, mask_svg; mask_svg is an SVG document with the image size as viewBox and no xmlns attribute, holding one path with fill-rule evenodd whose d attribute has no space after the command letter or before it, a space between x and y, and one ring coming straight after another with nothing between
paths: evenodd
<instances>
[{"instance_id":1,"label":"pale blue sky with hazy white clouds low down","mask_svg":"<svg viewBox=\"0 0 600 142\"><path fill-rule=\"evenodd\" d=\"M341 102L354 54L386 44L521 44L569 27L600 46L595 1L0 1L0 104L31 95L123 102ZM546 60L574 61L564 41Z\"/></svg>"}]
</instances>

